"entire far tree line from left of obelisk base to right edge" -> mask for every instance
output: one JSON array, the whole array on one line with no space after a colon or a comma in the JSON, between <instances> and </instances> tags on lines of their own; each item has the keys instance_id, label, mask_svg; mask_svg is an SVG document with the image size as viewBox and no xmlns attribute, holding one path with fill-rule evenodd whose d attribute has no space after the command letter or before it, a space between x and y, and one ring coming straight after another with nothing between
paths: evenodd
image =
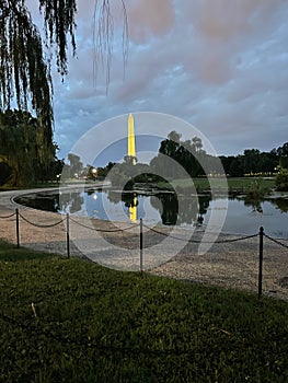
<instances>
[{"instance_id":1,"label":"entire far tree line from left of obelisk base to right edge","mask_svg":"<svg viewBox=\"0 0 288 383\"><path fill-rule=\"evenodd\" d=\"M113 170L113 172L111 172ZM159 182L208 175L226 175L231 177L273 175L279 189L287 189L288 142L269 152L258 149L246 149L243 154L215 156L203 148L201 139L193 137L182 140L175 130L160 143L158 155L149 164L131 165L126 156L123 163L112 163L97 169L97 175L108 175L113 185L125 185L133 188L134 183ZM127 182L128 179L128 182Z\"/></svg>"}]
</instances>

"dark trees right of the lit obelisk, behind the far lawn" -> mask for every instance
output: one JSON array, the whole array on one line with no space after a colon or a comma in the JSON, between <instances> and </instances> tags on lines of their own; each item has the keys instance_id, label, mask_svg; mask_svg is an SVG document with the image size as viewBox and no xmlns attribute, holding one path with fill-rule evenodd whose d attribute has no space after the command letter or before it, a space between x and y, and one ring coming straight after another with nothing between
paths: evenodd
<instances>
[{"instance_id":1,"label":"dark trees right of the lit obelisk, behind the far lawn","mask_svg":"<svg viewBox=\"0 0 288 383\"><path fill-rule=\"evenodd\" d=\"M174 178L178 177L177 172L183 172L183 169L192 177L223 174L223 172L232 177L272 175L277 172L278 166L288 169L288 142L269 152L245 149L242 154L215 156L203 149L200 138L181 140L178 132L171 131L168 138L161 141L159 154L151 160L150 166L160 174Z\"/></svg>"}]
</instances>

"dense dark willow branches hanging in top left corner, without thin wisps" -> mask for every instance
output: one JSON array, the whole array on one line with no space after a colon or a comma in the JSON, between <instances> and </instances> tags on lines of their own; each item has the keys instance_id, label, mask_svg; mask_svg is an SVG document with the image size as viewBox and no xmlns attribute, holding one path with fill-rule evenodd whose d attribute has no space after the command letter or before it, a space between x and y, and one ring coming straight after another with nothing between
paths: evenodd
<instances>
[{"instance_id":1,"label":"dense dark willow branches hanging in top left corner, without thin wisps","mask_svg":"<svg viewBox=\"0 0 288 383\"><path fill-rule=\"evenodd\" d=\"M73 51L74 0L39 0L44 13L46 40L33 23L25 0L1 0L0 3L0 109L12 101L19 109L33 109L45 128L47 141L53 136L51 55L44 49L54 46L58 71L67 73L67 36Z\"/></svg>"}]
</instances>

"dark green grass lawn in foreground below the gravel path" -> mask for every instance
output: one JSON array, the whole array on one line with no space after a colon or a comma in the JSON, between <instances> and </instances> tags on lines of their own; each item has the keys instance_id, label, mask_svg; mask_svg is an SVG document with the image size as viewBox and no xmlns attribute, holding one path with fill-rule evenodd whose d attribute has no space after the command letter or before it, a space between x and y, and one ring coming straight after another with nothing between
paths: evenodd
<instances>
[{"instance_id":1,"label":"dark green grass lawn in foreground below the gravel path","mask_svg":"<svg viewBox=\"0 0 288 383\"><path fill-rule=\"evenodd\" d=\"M0 382L288 381L287 302L0 249Z\"/></svg>"}]
</instances>

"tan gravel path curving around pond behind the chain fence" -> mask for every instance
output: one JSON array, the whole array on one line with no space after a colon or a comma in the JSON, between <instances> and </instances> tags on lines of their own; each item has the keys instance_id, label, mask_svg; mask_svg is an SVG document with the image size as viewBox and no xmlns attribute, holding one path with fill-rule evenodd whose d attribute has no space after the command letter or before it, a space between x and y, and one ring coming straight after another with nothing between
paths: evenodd
<instances>
[{"instance_id":1,"label":"tan gravel path curving around pond behind the chain fence","mask_svg":"<svg viewBox=\"0 0 288 383\"><path fill-rule=\"evenodd\" d=\"M19 208L21 246L67 255L66 216L25 208L12 200L16 195L35 190L0 193L0 239L16 243L15 214L7 217ZM46 227L58 222L60 223L51 228L34 225ZM118 269L139 270L139 225L72 216L69 227L72 256L88 257ZM173 232L173 237L165 236L170 230L158 228L157 233L145 228L143 269L182 280L257 291L258 236L239 242L216 243L206 254L199 255L198 244L191 241L200 241L203 231L195 231L191 235L178 229ZM231 239L237 236L221 234L218 241ZM280 242L288 245L287 240ZM266 237L263 293L288 300L288 248Z\"/></svg>"}]
</instances>

